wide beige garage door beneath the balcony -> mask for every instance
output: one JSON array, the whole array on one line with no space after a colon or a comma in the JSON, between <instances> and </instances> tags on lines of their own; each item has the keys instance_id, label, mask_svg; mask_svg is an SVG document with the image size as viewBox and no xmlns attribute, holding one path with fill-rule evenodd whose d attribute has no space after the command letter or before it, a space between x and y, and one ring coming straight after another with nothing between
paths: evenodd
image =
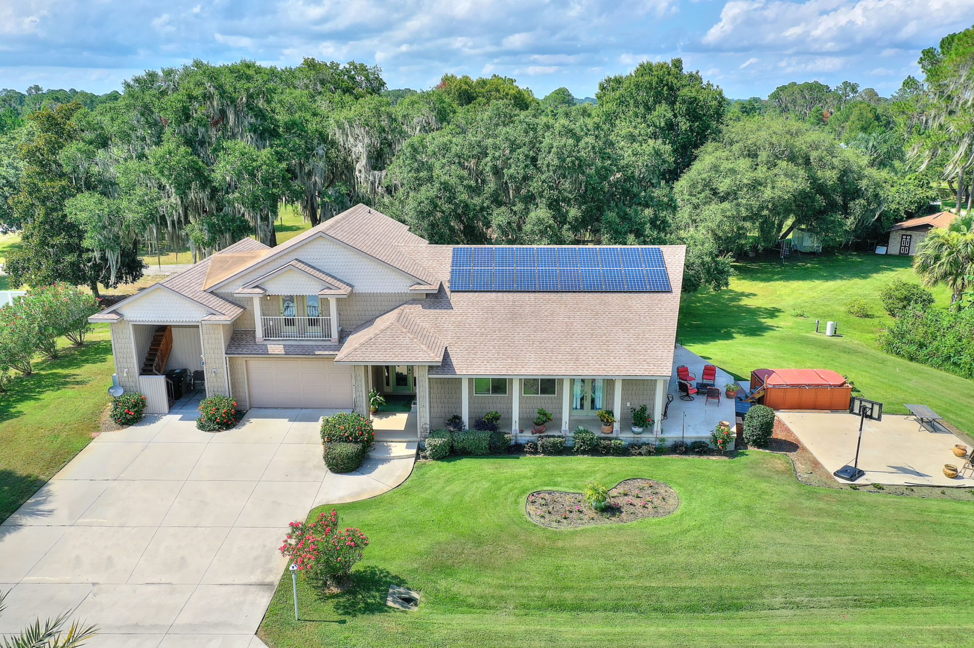
<instances>
[{"instance_id":1,"label":"wide beige garage door beneath the balcony","mask_svg":"<svg viewBox=\"0 0 974 648\"><path fill-rule=\"evenodd\" d=\"M352 368L331 360L247 360L252 408L352 409Z\"/></svg>"}]
</instances>

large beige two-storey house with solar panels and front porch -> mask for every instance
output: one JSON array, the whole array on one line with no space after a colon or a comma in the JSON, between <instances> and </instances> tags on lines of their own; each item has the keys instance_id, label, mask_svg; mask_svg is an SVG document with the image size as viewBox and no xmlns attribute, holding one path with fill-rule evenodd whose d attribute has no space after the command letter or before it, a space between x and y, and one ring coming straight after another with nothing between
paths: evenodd
<instances>
[{"instance_id":1,"label":"large beige two-storey house with solar panels and front porch","mask_svg":"<svg viewBox=\"0 0 974 648\"><path fill-rule=\"evenodd\" d=\"M152 413L169 411L159 374L187 368L241 409L367 414L370 389L400 394L417 432L492 410L511 430L539 408L562 430L643 404L658 421L685 251L431 245L359 204L275 248L245 238L91 321L111 323L119 381Z\"/></svg>"}]
</instances>

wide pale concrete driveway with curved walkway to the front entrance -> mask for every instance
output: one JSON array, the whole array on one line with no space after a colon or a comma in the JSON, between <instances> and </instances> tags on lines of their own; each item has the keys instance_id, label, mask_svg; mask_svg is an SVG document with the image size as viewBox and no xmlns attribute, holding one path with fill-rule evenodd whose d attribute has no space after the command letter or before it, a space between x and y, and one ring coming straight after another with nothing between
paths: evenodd
<instances>
[{"instance_id":1,"label":"wide pale concrete driveway with curved walkway to the front entrance","mask_svg":"<svg viewBox=\"0 0 974 648\"><path fill-rule=\"evenodd\" d=\"M251 410L207 433L196 407L101 434L0 524L0 633L77 608L101 629L93 646L261 646L287 522L412 471L403 448L380 446L356 473L328 473L329 411Z\"/></svg>"}]
</instances>

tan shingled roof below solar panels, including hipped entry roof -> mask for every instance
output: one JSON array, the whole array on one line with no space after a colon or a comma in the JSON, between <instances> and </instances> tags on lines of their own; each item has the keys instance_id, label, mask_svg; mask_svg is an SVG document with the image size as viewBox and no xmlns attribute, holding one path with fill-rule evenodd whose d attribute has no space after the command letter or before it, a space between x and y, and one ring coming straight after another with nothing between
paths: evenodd
<instances>
[{"instance_id":1,"label":"tan shingled roof below solar panels, including hipped entry roof","mask_svg":"<svg viewBox=\"0 0 974 648\"><path fill-rule=\"evenodd\" d=\"M384 364L411 337L445 345L442 364L430 368L431 376L667 377L673 366L686 247L660 249L672 292L450 294L441 288L435 296L358 327L339 360ZM433 254L437 252L431 251L431 258ZM448 264L431 266L449 271ZM403 314L407 320L400 319ZM408 321L409 336L389 336L387 348L387 338L372 329L385 330L393 321ZM423 346L430 348L430 343Z\"/></svg>"}]
</instances>

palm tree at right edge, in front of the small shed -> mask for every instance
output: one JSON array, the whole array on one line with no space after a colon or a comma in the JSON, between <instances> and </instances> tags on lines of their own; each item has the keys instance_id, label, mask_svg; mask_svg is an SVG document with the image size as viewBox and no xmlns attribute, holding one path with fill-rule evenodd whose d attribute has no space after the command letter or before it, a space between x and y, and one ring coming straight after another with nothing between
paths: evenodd
<instances>
[{"instance_id":1,"label":"palm tree at right edge, in front of the small shed","mask_svg":"<svg viewBox=\"0 0 974 648\"><path fill-rule=\"evenodd\" d=\"M974 233L935 228L919 244L914 270L925 286L949 286L954 306L965 290L974 287Z\"/></svg>"}]
</instances>

